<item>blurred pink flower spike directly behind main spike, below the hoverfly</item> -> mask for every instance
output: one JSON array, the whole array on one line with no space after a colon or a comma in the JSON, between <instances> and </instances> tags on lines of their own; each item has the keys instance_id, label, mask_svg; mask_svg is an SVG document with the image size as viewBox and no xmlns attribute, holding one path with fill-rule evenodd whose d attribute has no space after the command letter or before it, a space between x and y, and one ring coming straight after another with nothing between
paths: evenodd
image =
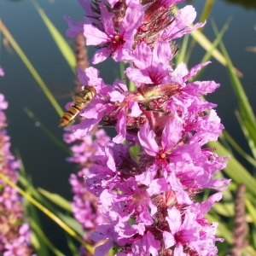
<instances>
[{"instance_id":1,"label":"blurred pink flower spike directly behind main spike, below the hoverfly","mask_svg":"<svg viewBox=\"0 0 256 256\"><path fill-rule=\"evenodd\" d=\"M108 137L104 130L95 132L96 141L93 140L91 135L85 136L79 141L73 136L72 133L66 132L64 140L66 143L74 143L70 148L73 156L69 157L67 161L78 163L80 171L78 174L71 174L69 182L73 190L73 215L82 224L85 231L84 239L87 239L92 230L96 229L97 224L103 224L106 220L102 214L98 212L97 201L95 195L90 194L84 187L84 177L89 174L89 168L95 161L93 155L98 154L102 148L98 143L107 146L110 137ZM97 143L96 143L97 142Z\"/></svg>"}]
</instances>

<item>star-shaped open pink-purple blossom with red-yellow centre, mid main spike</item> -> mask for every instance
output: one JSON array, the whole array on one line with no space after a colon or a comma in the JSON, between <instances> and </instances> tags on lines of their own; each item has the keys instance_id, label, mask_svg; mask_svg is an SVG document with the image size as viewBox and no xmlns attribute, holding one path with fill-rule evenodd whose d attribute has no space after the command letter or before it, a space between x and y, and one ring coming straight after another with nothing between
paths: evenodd
<instances>
[{"instance_id":1,"label":"star-shaped open pink-purple blossom with red-yellow centre, mid main spike","mask_svg":"<svg viewBox=\"0 0 256 256\"><path fill-rule=\"evenodd\" d=\"M169 166L170 162L185 162L199 157L201 149L197 143L183 145L183 141L180 142L182 130L182 120L178 119L177 116L174 117L162 131L162 141L161 146L159 146L154 139L154 131L149 131L148 124L143 125L138 132L139 141L145 152L154 156L154 165L150 166L140 177L137 177L137 181L150 186L160 166L162 166L163 175L168 176L173 170ZM183 192L181 183L175 175L172 175L170 181L173 182L171 184L172 189ZM187 195L184 194L184 197L187 198ZM188 198L187 200L189 202Z\"/></svg>"}]
</instances>

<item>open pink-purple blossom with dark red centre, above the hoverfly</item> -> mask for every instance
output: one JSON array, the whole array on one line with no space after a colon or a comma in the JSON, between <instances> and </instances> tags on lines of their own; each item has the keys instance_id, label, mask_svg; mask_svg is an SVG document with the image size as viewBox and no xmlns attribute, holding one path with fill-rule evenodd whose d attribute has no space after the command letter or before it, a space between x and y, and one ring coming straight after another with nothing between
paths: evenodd
<instances>
[{"instance_id":1,"label":"open pink-purple blossom with dark red centre, above the hoverfly","mask_svg":"<svg viewBox=\"0 0 256 256\"><path fill-rule=\"evenodd\" d=\"M143 20L143 9L140 4L131 4L125 11L125 16L119 22L119 29L113 22L114 14L108 11L105 4L99 3L102 26L94 26L93 19L87 19L84 24L84 37L87 45L102 45L96 51L92 63L102 62L112 55L115 61L129 61L131 47L137 27Z\"/></svg>"}]
</instances>

